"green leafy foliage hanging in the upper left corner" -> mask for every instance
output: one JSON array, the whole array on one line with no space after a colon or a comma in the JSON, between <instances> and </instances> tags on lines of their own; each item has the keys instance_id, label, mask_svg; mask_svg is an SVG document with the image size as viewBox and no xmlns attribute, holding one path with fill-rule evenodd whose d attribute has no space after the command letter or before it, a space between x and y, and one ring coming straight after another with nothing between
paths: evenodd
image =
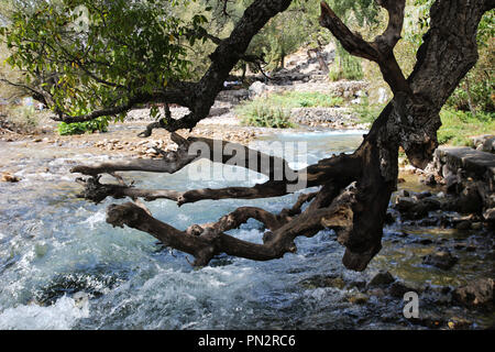
<instances>
[{"instance_id":1,"label":"green leafy foliage hanging in the upper left corner","mask_svg":"<svg viewBox=\"0 0 495 352\"><path fill-rule=\"evenodd\" d=\"M206 41L207 20L175 13L191 1L36 1L0 30L12 53L7 63L25 70L55 111L125 105L189 77L185 47Z\"/></svg>"}]
</instances>

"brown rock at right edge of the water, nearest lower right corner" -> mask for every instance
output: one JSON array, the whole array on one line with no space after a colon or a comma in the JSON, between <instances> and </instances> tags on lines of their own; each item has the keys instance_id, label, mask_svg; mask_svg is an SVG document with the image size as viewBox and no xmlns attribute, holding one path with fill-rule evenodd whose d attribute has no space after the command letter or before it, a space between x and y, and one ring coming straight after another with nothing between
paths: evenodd
<instances>
[{"instance_id":1,"label":"brown rock at right edge of the water, nearest lower right corner","mask_svg":"<svg viewBox=\"0 0 495 352\"><path fill-rule=\"evenodd\" d=\"M486 306L495 302L493 292L495 282L493 278L480 278L465 286L457 288L452 297L460 304L466 306Z\"/></svg>"}]
</instances>

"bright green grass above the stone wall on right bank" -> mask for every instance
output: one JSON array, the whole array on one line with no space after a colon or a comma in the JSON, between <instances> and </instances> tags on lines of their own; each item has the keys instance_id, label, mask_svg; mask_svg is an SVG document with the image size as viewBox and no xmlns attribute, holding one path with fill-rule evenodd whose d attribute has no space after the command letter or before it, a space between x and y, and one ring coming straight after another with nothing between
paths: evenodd
<instances>
[{"instance_id":1,"label":"bright green grass above the stone wall on right bank","mask_svg":"<svg viewBox=\"0 0 495 352\"><path fill-rule=\"evenodd\" d=\"M442 127L438 130L440 144L472 146L471 136L495 134L495 113L471 112L442 109L440 112Z\"/></svg>"}]
</instances>

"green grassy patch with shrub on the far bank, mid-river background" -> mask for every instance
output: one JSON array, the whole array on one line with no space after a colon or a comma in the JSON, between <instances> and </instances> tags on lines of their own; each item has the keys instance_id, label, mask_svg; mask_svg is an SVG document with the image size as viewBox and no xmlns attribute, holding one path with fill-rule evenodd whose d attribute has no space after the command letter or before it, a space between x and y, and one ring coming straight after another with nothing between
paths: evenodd
<instances>
[{"instance_id":1,"label":"green grassy patch with shrub on the far bank, mid-river background","mask_svg":"<svg viewBox=\"0 0 495 352\"><path fill-rule=\"evenodd\" d=\"M290 109L333 108L343 103L342 98L322 92L287 91L246 101L235 108L235 113L244 125L287 129L296 127L290 122Z\"/></svg>"}]
</instances>

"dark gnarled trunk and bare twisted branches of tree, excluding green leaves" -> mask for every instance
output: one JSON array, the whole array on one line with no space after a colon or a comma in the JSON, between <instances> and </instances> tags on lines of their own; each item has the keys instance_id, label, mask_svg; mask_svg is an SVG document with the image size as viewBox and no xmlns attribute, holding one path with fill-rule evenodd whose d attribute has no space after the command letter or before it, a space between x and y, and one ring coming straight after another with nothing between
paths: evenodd
<instances>
[{"instance_id":1,"label":"dark gnarled trunk and bare twisted branches of tree, excluding green leaves","mask_svg":"<svg viewBox=\"0 0 495 352\"><path fill-rule=\"evenodd\" d=\"M262 7L263 1L255 4ZM290 209L279 215L272 215L263 209L243 207L221 218L215 223L191 226L186 231L179 231L166 223L154 219L140 202L113 205L108 209L107 221L112 226L128 226L147 232L162 241L165 245L184 251L196 257L195 265L206 265L217 254L227 253L257 261L282 257L287 252L295 252L294 239L298 235L312 237L320 230L333 229L338 241L346 248L343 264L354 271L366 268L373 256L381 250L383 226L386 209L392 193L397 184L398 147L403 146L409 161L418 167L425 167L431 160L438 145L437 130L440 127L439 111L447 98L468 70L477 59L476 29L483 13L494 7L493 0L438 0L431 8L430 30L425 35L425 42L418 51L417 64L413 74L406 79L396 62L393 50L400 38L404 21L405 0L376 1L388 11L389 23L385 32L374 42L365 42L360 35L352 33L333 11L323 2L321 4L320 23L329 29L351 54L376 62L384 79L391 86L394 98L373 123L370 133L361 146L350 155L341 154L320 161L306 169L294 172L287 167L285 161L272 157L268 169L252 168L270 177L265 184L254 187L229 187L224 189L198 189L178 193L175 190L144 190L128 187L114 172L144 170L175 173L200 157L210 158L217 163L229 163L230 157L216 158L213 154L188 154L193 140L184 140L174 134L174 141L179 145L177 152L164 153L164 158L156 161L125 161L102 165L82 165L74 168L76 173L89 175L80 179L86 186L84 196L95 201L101 201L108 196L114 198L130 197L154 200L167 198L179 205L199 201L201 199L223 198L267 198L277 197L296 191L304 179L304 187L321 186L315 194L302 195ZM275 3L275 2L274 2ZM254 21L258 26L266 22L266 13L274 15L287 7L287 2L277 1L278 8L270 10L263 8L265 16L260 20L253 11L246 11L240 23L244 28ZM270 10L270 11L268 11ZM256 28L257 28L256 26ZM237 32L235 32L237 31ZM241 30L234 30L242 35ZM252 37L250 31L248 36ZM248 42L237 38L240 52L248 46ZM227 50L229 46L226 46ZM242 45L241 45L242 44ZM220 47L220 46L219 46ZM213 55L220 55L222 50ZM233 66L235 57L229 55L227 68ZM216 62L221 65L221 62ZM217 73L227 75L229 69L212 67L209 78L218 79ZM220 75L220 76L221 76ZM210 89L213 84L204 81L204 89ZM201 86L202 87L202 86ZM204 91L198 99L206 103L197 106L197 111L209 111L215 100L215 91ZM191 120L185 123L190 128ZM180 122L177 122L177 127ZM176 129L174 128L174 131ZM202 139L207 145L215 141ZM263 157L257 151L244 150L244 155L253 153ZM257 164L258 165L258 164ZM277 179L283 165L283 177ZM102 185L99 174L109 173L118 177L119 185ZM289 176L296 176L289 177ZM304 204L310 202L301 211ZM263 244L255 244L238 240L224 232L239 227L254 218L270 230L263 238Z\"/></svg>"}]
</instances>

